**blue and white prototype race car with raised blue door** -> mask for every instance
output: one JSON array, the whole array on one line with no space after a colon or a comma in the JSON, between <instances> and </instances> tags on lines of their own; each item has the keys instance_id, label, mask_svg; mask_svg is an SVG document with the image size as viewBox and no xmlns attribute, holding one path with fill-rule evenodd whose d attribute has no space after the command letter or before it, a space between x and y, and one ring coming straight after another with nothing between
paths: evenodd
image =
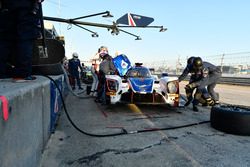
<instances>
[{"instance_id":1,"label":"blue and white prototype race car with raised blue door","mask_svg":"<svg viewBox=\"0 0 250 167\"><path fill-rule=\"evenodd\" d=\"M179 106L177 77L153 76L142 63L131 66L125 55L113 59L119 75L106 75L108 103L168 104Z\"/></svg>"}]
</instances>

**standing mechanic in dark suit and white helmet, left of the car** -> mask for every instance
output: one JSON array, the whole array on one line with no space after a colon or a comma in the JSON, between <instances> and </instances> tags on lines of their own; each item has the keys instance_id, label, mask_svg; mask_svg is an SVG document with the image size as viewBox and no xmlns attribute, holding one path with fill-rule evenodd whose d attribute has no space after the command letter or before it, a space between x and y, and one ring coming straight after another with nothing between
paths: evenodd
<instances>
[{"instance_id":1,"label":"standing mechanic in dark suit and white helmet, left of the car","mask_svg":"<svg viewBox=\"0 0 250 167\"><path fill-rule=\"evenodd\" d=\"M68 69L69 69L69 74L70 77L72 79L72 89L75 90L75 80L77 81L77 85L79 89L83 89L81 87L81 82L80 82L80 74L79 74L79 68L81 70L82 73L82 66L81 66L81 62L78 59L78 54L75 52L72 54L72 59L69 60L69 64L68 64Z\"/></svg>"}]
</instances>

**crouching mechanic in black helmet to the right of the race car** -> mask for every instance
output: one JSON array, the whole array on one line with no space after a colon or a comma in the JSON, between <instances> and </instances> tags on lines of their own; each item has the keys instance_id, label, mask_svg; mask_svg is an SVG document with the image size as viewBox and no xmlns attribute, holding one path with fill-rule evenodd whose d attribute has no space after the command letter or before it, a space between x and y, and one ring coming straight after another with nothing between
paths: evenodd
<instances>
[{"instance_id":1,"label":"crouching mechanic in black helmet to the right of the race car","mask_svg":"<svg viewBox=\"0 0 250 167\"><path fill-rule=\"evenodd\" d=\"M198 111L197 104L201 96L208 105L219 104L219 94L214 91L214 88L222 75L220 68L209 62L203 62L200 57L193 59L192 68L202 76L200 80L186 85L186 89L197 88L193 101L193 110Z\"/></svg>"}]
</instances>

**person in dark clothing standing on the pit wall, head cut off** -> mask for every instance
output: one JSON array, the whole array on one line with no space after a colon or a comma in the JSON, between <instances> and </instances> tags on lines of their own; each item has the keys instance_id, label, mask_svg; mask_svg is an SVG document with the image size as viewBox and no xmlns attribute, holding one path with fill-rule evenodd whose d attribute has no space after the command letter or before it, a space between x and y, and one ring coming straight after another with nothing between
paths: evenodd
<instances>
[{"instance_id":1,"label":"person in dark clothing standing on the pit wall, head cut off","mask_svg":"<svg viewBox=\"0 0 250 167\"><path fill-rule=\"evenodd\" d=\"M33 43L41 36L39 3L41 0L0 0L0 78L35 79L31 72Z\"/></svg>"}]
</instances>

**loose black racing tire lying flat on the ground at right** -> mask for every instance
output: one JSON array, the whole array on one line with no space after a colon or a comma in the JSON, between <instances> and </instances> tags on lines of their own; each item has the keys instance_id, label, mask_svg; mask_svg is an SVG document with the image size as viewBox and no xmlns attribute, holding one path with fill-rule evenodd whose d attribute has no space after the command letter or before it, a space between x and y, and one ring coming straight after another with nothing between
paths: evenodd
<instances>
[{"instance_id":1,"label":"loose black racing tire lying flat on the ground at right","mask_svg":"<svg viewBox=\"0 0 250 167\"><path fill-rule=\"evenodd\" d=\"M244 106L213 106L210 113L211 126L217 130L250 136L250 108Z\"/></svg>"}]
</instances>

